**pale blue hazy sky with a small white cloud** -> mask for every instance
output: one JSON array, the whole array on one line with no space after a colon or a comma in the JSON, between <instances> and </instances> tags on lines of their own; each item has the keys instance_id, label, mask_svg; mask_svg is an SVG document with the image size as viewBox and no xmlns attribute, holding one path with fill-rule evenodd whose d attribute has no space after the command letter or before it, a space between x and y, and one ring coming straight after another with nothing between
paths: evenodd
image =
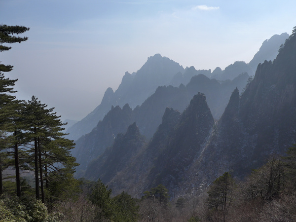
<instances>
[{"instance_id":1,"label":"pale blue hazy sky with a small white cloud","mask_svg":"<svg viewBox=\"0 0 296 222\"><path fill-rule=\"evenodd\" d=\"M295 12L295 0L0 0L0 23L31 28L0 61L14 66L18 99L80 120L149 56L195 69L248 63L265 39L292 33Z\"/></svg>"}]
</instances>

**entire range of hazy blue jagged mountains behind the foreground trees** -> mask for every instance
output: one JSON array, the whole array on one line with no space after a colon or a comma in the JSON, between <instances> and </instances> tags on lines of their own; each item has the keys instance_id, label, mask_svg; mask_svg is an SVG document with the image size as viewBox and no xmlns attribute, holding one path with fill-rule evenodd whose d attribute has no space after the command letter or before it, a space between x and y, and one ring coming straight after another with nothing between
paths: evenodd
<instances>
[{"instance_id":1,"label":"entire range of hazy blue jagged mountains behind the foreground trees","mask_svg":"<svg viewBox=\"0 0 296 222\"><path fill-rule=\"evenodd\" d=\"M159 54L149 57L69 129L80 124L82 130L105 109L93 129L75 142L76 176L100 178L115 193L139 196L163 184L171 196L192 195L225 171L242 177L269 155L283 154L296 141L296 36L280 50L285 39L277 48L274 39L287 35L264 41L252 63L235 62L213 73L183 69ZM262 58L257 55L265 51L270 56L268 42L278 52L276 60L259 63L250 77L246 71L253 72L255 60Z\"/></svg>"}]
</instances>

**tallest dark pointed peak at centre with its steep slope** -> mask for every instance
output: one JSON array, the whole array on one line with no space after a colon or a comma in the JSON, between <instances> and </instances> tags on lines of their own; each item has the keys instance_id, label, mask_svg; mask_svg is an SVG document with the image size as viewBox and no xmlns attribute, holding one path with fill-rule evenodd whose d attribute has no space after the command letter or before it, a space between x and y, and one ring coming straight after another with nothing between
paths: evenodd
<instances>
[{"instance_id":1,"label":"tallest dark pointed peak at centre with its steep slope","mask_svg":"<svg viewBox=\"0 0 296 222\"><path fill-rule=\"evenodd\" d=\"M153 185L163 184L174 188L182 181L183 174L200 153L214 118L203 94L197 94L182 113L180 121L167 137L167 146L154 162L149 173Z\"/></svg>"}]
</instances>

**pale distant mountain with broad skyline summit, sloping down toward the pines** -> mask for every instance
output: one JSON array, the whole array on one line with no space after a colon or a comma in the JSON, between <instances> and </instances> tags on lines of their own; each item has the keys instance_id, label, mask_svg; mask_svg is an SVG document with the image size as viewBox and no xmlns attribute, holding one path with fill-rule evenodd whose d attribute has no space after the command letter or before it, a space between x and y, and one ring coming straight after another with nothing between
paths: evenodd
<instances>
[{"instance_id":1,"label":"pale distant mountain with broad skyline summit, sloping down toward the pines","mask_svg":"<svg viewBox=\"0 0 296 222\"><path fill-rule=\"evenodd\" d=\"M78 139L89 133L102 120L111 106L123 107L126 103L131 108L141 105L160 85L168 85L172 77L184 69L178 63L160 54L150 56L137 73L125 73L118 89L113 92L108 88L102 103L82 120L67 130L69 138Z\"/></svg>"}]
</instances>

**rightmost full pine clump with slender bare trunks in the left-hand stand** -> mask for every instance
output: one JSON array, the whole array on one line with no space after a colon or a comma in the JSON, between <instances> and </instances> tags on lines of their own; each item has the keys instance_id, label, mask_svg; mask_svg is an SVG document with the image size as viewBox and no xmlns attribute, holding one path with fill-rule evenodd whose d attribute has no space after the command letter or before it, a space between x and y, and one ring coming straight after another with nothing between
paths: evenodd
<instances>
[{"instance_id":1,"label":"rightmost full pine clump with slender bare trunks in the left-hand stand","mask_svg":"<svg viewBox=\"0 0 296 222\"><path fill-rule=\"evenodd\" d=\"M65 196L66 190L73 191L78 183L73 178L74 167L78 164L70 153L74 143L66 139L66 134L62 132L65 124L53 112L54 108L46 107L33 96L26 106L26 121L34 145L36 198L39 199L40 185L42 202L45 202L45 189L48 190L49 202L52 202L52 197L61 198Z\"/></svg>"}]
</instances>

